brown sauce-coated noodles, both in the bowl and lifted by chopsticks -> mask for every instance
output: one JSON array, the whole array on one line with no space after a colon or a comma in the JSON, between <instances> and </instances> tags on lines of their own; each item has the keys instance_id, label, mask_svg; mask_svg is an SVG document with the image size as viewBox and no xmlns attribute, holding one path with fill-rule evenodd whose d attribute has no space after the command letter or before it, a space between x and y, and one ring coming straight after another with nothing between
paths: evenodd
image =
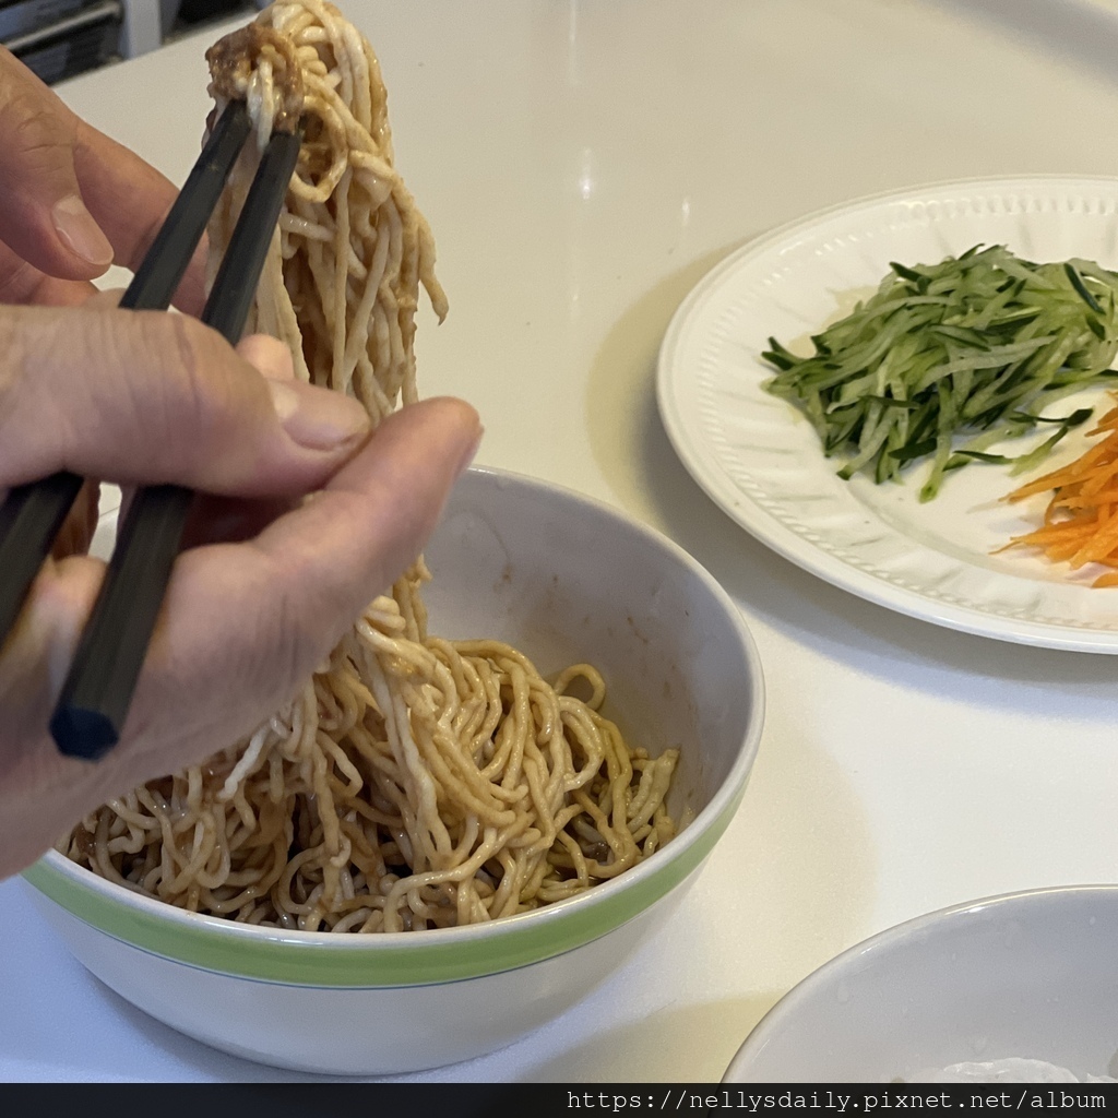
<instances>
[{"instance_id":1,"label":"brown sauce-coated noodles, both in the bowl and lifted by chopsticks","mask_svg":"<svg viewBox=\"0 0 1118 1118\"><path fill-rule=\"evenodd\" d=\"M214 216L214 255L272 129L295 127L301 105L304 143L252 329L379 421L418 398L419 286L439 319L446 297L394 165L377 58L320 0L281 0L208 58L218 110L245 97L255 125ZM192 911L399 931L570 897L671 839L678 750L627 747L589 665L548 683L505 644L429 636L427 578L419 559L248 739L104 805L58 849Z\"/></svg>"}]
</instances>

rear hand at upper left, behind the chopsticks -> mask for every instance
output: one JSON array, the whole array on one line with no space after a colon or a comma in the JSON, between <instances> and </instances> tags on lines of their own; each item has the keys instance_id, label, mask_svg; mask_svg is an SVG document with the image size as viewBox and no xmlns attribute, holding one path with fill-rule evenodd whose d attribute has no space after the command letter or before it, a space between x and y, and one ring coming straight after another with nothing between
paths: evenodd
<instances>
[{"instance_id":1,"label":"rear hand at upper left, behind the chopsticks","mask_svg":"<svg viewBox=\"0 0 1118 1118\"><path fill-rule=\"evenodd\" d=\"M0 47L0 303L82 303L110 264L135 271L177 192ZM203 268L199 249L176 297L192 314Z\"/></svg>"}]
</instances>

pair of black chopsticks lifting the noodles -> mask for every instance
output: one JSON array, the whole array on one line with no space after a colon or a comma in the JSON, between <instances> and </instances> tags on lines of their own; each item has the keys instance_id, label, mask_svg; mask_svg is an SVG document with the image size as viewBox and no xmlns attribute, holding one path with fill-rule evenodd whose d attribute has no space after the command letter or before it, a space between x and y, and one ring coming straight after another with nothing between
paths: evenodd
<instances>
[{"instance_id":1,"label":"pair of black chopsticks lifting the noodles","mask_svg":"<svg viewBox=\"0 0 1118 1118\"><path fill-rule=\"evenodd\" d=\"M121 305L165 310L248 136L243 102L221 114ZM244 330L301 136L276 132L260 160L202 321L228 341ZM0 642L19 616L82 479L61 472L13 487L0 506ZM176 485L136 492L108 571L50 720L58 749L96 759L120 737L162 604L192 494Z\"/></svg>"}]
</instances>

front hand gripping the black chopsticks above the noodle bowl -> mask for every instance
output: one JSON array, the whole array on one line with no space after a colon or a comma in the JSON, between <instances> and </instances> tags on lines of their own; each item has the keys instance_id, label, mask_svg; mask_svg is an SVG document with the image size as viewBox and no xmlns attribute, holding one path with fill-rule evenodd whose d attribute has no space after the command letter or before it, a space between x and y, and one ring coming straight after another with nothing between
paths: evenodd
<instances>
[{"instance_id":1,"label":"front hand gripping the black chopsticks above the noodle bowl","mask_svg":"<svg viewBox=\"0 0 1118 1118\"><path fill-rule=\"evenodd\" d=\"M47 722L104 563L48 560L32 585L0 648L2 878L278 709L421 549L480 427L438 399L370 437L360 405L295 381L278 342L238 356L184 315L0 309L0 491L66 468L222 499L220 521L191 525L210 542L176 562L121 741L95 764L61 756ZM241 539L230 499L258 534Z\"/></svg>"}]
</instances>

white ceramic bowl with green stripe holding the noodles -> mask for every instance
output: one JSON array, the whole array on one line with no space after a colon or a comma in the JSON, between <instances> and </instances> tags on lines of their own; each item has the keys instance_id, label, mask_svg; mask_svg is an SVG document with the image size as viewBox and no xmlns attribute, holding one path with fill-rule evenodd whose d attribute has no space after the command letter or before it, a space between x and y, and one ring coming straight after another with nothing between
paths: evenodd
<instances>
[{"instance_id":1,"label":"white ceramic bowl with green stripe holding the noodles","mask_svg":"<svg viewBox=\"0 0 1118 1118\"><path fill-rule=\"evenodd\" d=\"M490 470L462 479L426 555L430 632L510 641L544 673L596 664L631 741L681 748L669 806L692 822L580 897L481 927L373 936L183 912L47 854L25 874L38 908L133 1005L215 1048L302 1071L453 1063L586 995L694 879L745 792L764 713L756 648L721 587L623 514Z\"/></svg>"}]
</instances>

